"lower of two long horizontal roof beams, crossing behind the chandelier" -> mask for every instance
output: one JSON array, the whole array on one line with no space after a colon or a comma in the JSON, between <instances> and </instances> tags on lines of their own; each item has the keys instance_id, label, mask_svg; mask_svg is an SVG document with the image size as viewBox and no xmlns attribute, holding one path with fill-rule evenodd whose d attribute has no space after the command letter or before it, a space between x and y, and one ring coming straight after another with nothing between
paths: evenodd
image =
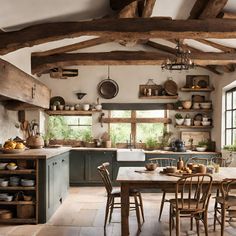
<instances>
[{"instance_id":1,"label":"lower of two long horizontal roof beams, crossing behind the chandelier","mask_svg":"<svg viewBox=\"0 0 236 236\"><path fill-rule=\"evenodd\" d=\"M32 73L41 74L54 67L72 65L161 65L169 53L144 51L112 51L99 53L57 54L50 57L32 56ZM236 53L192 53L196 65L227 65L236 63Z\"/></svg>"}]
</instances>

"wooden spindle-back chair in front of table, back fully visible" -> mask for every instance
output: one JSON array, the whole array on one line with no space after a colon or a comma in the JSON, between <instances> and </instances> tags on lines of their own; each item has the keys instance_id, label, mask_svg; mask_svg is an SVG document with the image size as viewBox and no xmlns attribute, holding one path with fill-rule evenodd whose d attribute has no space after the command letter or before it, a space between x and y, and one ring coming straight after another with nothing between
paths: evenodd
<instances>
[{"instance_id":1,"label":"wooden spindle-back chair in front of table, back fully visible","mask_svg":"<svg viewBox=\"0 0 236 236\"><path fill-rule=\"evenodd\" d=\"M176 218L176 236L180 235L180 217L196 220L197 235L199 221L204 224L205 235L208 235L207 211L211 196L212 177L208 174L193 174L180 178L176 183L175 198L170 199L169 231L173 229Z\"/></svg>"}]
</instances>

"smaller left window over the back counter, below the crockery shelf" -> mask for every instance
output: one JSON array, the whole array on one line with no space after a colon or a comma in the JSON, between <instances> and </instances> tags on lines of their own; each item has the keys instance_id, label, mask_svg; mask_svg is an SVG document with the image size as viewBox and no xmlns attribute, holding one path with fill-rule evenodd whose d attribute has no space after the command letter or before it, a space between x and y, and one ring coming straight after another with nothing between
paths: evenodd
<instances>
[{"instance_id":1,"label":"smaller left window over the back counter, below the crockery shelf","mask_svg":"<svg viewBox=\"0 0 236 236\"><path fill-rule=\"evenodd\" d=\"M50 139L88 140L92 136L92 116L50 116Z\"/></svg>"}]
</instances>

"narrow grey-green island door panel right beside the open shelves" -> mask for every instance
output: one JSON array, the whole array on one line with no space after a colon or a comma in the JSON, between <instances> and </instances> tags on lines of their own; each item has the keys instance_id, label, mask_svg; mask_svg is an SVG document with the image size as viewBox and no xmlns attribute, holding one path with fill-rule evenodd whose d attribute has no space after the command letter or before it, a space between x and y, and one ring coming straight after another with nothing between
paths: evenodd
<instances>
[{"instance_id":1,"label":"narrow grey-green island door panel right beside the open shelves","mask_svg":"<svg viewBox=\"0 0 236 236\"><path fill-rule=\"evenodd\" d=\"M53 160L47 162L47 219L51 217L54 212L54 174L53 174Z\"/></svg>"}]
</instances>

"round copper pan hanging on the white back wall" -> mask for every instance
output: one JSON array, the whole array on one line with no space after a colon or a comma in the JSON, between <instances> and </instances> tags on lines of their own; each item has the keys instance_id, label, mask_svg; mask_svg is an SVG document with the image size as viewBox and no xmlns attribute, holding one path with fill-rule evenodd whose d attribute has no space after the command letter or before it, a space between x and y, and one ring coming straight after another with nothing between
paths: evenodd
<instances>
[{"instance_id":1,"label":"round copper pan hanging on the white back wall","mask_svg":"<svg viewBox=\"0 0 236 236\"><path fill-rule=\"evenodd\" d=\"M116 81L110 79L108 66L108 78L98 84L98 94L105 99L114 98L119 92L119 86Z\"/></svg>"}]
</instances>

